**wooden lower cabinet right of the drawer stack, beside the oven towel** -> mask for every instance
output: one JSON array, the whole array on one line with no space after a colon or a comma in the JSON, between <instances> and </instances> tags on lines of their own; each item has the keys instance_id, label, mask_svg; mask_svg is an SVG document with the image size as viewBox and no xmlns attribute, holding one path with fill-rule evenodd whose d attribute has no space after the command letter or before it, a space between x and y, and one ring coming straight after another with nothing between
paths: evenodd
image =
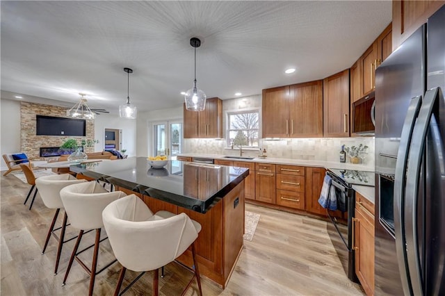
<instances>
[{"instance_id":1,"label":"wooden lower cabinet right of the drawer stack, beside the oven towel","mask_svg":"<svg viewBox=\"0 0 445 296\"><path fill-rule=\"evenodd\" d=\"M326 209L318 204L326 170L322 167L306 167L306 211L326 215Z\"/></svg>"}]
</instances>

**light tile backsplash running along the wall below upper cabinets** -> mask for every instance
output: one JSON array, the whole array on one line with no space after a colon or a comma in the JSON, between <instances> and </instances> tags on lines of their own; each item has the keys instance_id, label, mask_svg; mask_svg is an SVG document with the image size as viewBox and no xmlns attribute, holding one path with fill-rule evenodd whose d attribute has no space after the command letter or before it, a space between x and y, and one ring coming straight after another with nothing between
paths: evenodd
<instances>
[{"instance_id":1,"label":"light tile backsplash running along the wall below upper cabinets","mask_svg":"<svg viewBox=\"0 0 445 296\"><path fill-rule=\"evenodd\" d=\"M368 146L363 165L374 167L374 138L293 138L260 140L260 147L266 149L271 158L293 158L314 161L339 161L341 145L351 147L360 144ZM227 148L227 142L215 139L184 139L184 153L235 155L238 150ZM243 155L257 156L258 149L246 149ZM346 162L349 162L346 155Z\"/></svg>"}]
</instances>

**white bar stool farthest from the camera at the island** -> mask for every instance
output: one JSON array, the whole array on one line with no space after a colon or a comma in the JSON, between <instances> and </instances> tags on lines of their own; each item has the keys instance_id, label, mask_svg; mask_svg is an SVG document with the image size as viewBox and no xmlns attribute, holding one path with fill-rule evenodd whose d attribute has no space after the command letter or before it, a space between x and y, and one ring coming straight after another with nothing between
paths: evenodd
<instances>
[{"instance_id":1,"label":"white bar stool farthest from the camera at the island","mask_svg":"<svg viewBox=\"0 0 445 296\"><path fill-rule=\"evenodd\" d=\"M41 177L35 179L35 186L37 186L37 189L40 192L40 197L42 197L43 204L45 206L47 206L47 208L56 209L56 213L54 213L53 220L51 222L51 225L49 226L47 238L44 242L44 247L42 250L42 254L44 254L45 250L47 249L49 237L51 236L51 234L53 234L58 239L56 266L54 268L54 275L57 274L58 263L60 261L60 254L62 253L63 244L65 244L65 242L69 242L70 240L73 240L74 238L76 238L76 237L74 237L74 238L65 240L65 229L67 227L67 213L66 213L66 211L63 215L62 226L54 229L54 225L56 224L58 213L60 212L60 209L63 209L62 199L60 199L60 190L68 185L72 185L74 183L81 183L81 182L86 182L86 181L81 180L81 179L76 179L71 174L54 174L54 175L49 175L49 176L41 176ZM56 233L54 233L54 231L57 231L59 229L60 229L60 236L57 237Z\"/></svg>"}]
</instances>

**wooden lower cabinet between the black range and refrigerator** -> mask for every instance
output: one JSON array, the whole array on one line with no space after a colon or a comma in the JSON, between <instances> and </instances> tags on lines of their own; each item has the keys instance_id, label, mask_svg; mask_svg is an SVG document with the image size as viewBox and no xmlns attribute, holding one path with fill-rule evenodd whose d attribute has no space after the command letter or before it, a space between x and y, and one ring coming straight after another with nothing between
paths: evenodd
<instances>
[{"instance_id":1,"label":"wooden lower cabinet between the black range and refrigerator","mask_svg":"<svg viewBox=\"0 0 445 296\"><path fill-rule=\"evenodd\" d=\"M374 224L373 204L356 192L353 218L355 273L366 295L374 295Z\"/></svg>"}]
</instances>

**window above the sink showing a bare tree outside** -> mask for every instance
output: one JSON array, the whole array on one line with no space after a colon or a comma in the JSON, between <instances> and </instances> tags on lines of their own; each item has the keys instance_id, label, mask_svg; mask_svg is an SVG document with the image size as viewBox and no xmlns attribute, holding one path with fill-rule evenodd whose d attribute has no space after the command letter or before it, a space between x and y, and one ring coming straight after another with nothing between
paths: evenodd
<instances>
[{"instance_id":1,"label":"window above the sink showing a bare tree outside","mask_svg":"<svg viewBox=\"0 0 445 296\"><path fill-rule=\"evenodd\" d=\"M227 115L227 145L258 147L259 111L230 112Z\"/></svg>"}]
</instances>

